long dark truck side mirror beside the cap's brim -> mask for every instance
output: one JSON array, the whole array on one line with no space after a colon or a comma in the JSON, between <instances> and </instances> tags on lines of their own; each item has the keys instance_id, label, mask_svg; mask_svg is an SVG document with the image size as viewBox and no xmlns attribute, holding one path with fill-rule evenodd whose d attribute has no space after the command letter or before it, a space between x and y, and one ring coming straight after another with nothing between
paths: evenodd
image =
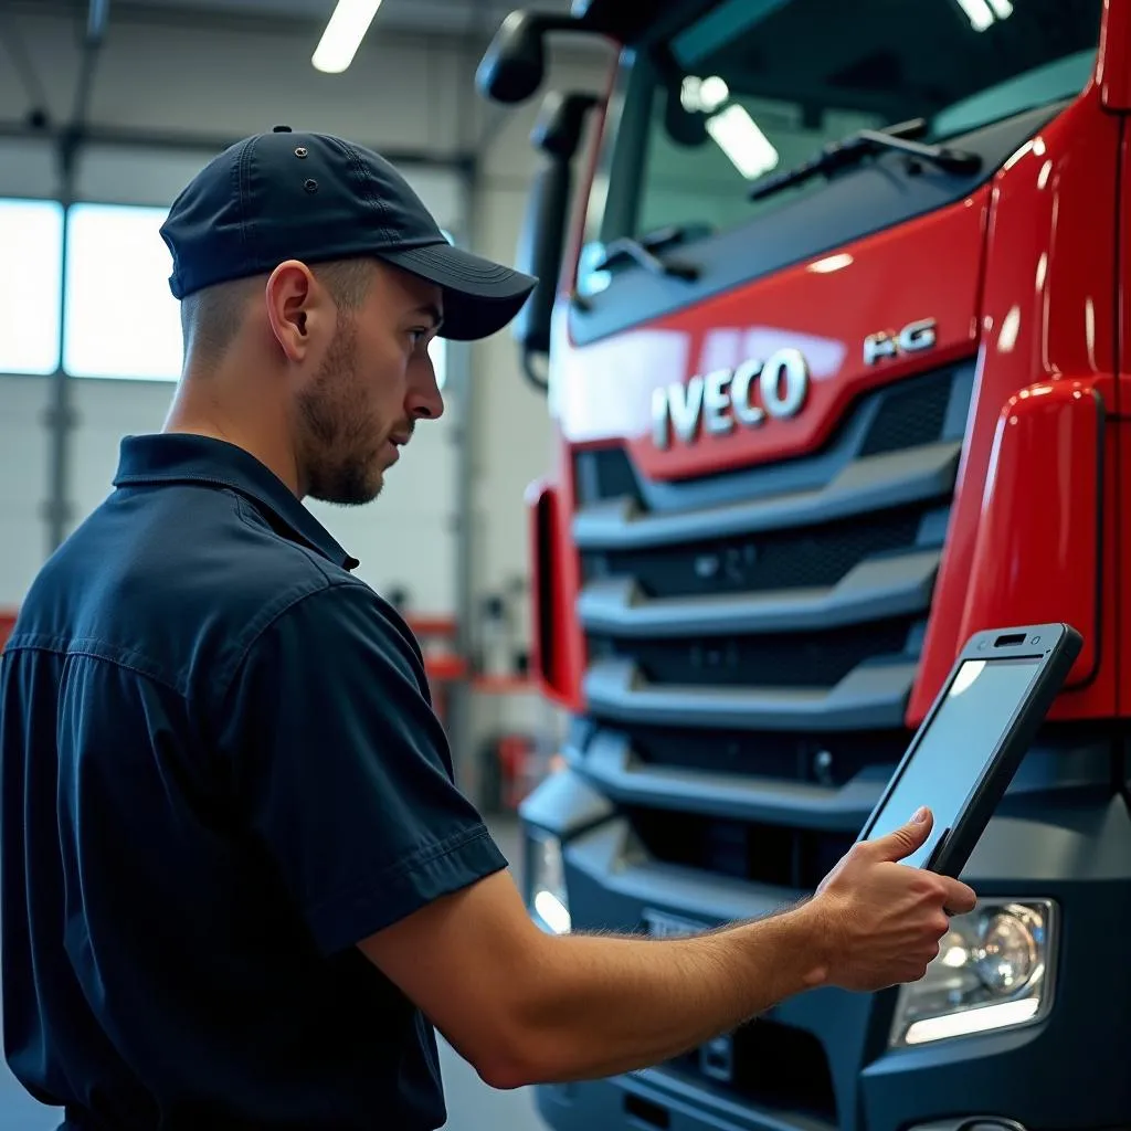
<instances>
[{"instance_id":1,"label":"long dark truck side mirror beside the cap's brim","mask_svg":"<svg viewBox=\"0 0 1131 1131\"><path fill-rule=\"evenodd\" d=\"M550 353L558 279L566 243L566 221L572 188L573 157L581 140L586 114L598 100L590 94L551 92L542 103L530 141L544 156L534 174L526 218L519 235L516 266L538 277L538 284L511 322L523 355L523 370L538 389L546 382L534 360Z\"/></svg>"}]
</instances>

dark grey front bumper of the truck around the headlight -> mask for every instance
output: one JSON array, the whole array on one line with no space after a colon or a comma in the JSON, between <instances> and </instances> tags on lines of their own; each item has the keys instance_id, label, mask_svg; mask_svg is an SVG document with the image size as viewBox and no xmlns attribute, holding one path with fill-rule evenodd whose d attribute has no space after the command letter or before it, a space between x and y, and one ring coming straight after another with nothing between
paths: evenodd
<instances>
[{"instance_id":1,"label":"dark grey front bumper of the truck around the headlight","mask_svg":"<svg viewBox=\"0 0 1131 1131\"><path fill-rule=\"evenodd\" d=\"M564 841L575 930L634 930L651 913L709 924L772 910L757 886L649 858L625 819L575 775L547 786L524 817ZM562 820L579 813L577 824ZM893 992L823 988L753 1022L757 1047L729 1081L683 1062L545 1086L543 1117L554 1131L1131 1128L1131 820L1122 798L1024 798L991 822L968 872L985 898L1051 898L1060 909L1055 994L1042 1020L891 1050Z\"/></svg>"}]
</instances>

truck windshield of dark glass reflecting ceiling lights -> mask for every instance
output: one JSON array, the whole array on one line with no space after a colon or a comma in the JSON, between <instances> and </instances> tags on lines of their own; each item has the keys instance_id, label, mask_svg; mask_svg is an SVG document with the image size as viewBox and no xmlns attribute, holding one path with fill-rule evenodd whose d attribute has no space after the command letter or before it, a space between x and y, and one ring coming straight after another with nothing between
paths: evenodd
<instances>
[{"instance_id":1,"label":"truck windshield of dark glass reflecting ceiling lights","mask_svg":"<svg viewBox=\"0 0 1131 1131\"><path fill-rule=\"evenodd\" d=\"M1069 100L1091 77L1102 3L683 5L624 53L586 254L595 261L622 236L694 240L819 192L823 178L762 200L749 190L861 128L923 118L921 140L958 145L968 131Z\"/></svg>"}]
</instances>

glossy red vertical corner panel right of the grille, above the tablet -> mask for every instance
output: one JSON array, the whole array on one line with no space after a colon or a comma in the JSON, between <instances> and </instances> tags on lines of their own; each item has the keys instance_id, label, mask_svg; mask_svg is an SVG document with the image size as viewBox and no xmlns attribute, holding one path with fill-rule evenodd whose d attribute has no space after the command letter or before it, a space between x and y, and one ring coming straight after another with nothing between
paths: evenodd
<instances>
[{"instance_id":1,"label":"glossy red vertical corner panel right of the grille, above the tablet","mask_svg":"<svg viewBox=\"0 0 1131 1131\"><path fill-rule=\"evenodd\" d=\"M999 438L1002 411L1029 387L1079 389L1098 397L1106 414L1119 408L1111 296L1119 242L1121 122L1098 113L1098 100L1099 90L1091 86L994 179L970 429L923 671L909 706L912 724L922 719L938 693L965 634L987 618L999 624L1080 619L1077 627L1091 641L1073 675L1079 679L1087 672L1085 665L1095 666L1097 650L1099 667L1086 688L1061 697L1053 717L1115 711L1116 639L1105 629L1116 623L1114 547L1125 524L1117 524L1115 508L1107 508L1098 593L1085 549L1085 543L1095 545L1091 517L1073 513L1069 520L1067 529L1080 545L1053 549L1061 537L1054 520L1067 519L1068 510L1078 506L1091 508L1094 515L1102 494L1114 497L1114 443L1105 444L1102 491L1097 459L1082 450L1095 428L1088 420L1091 411L1067 407L1070 392L1067 399L1059 394L1047 413L1026 406L1019 426L1007 426ZM1110 428L1105 432L1111 440ZM1050 466L1034 468L1030 481L1011 468L1028 458L1022 449L1034 443L1050 448ZM1077 456L1071 464L1069 451ZM995 483L995 476L1004 476L1003 482ZM1069 478L1071 504L1062 494ZM1048 492L1056 494L1047 498ZM1046 547L1050 553L1012 552L1020 546ZM978 596L972 598L975 570Z\"/></svg>"}]
</instances>

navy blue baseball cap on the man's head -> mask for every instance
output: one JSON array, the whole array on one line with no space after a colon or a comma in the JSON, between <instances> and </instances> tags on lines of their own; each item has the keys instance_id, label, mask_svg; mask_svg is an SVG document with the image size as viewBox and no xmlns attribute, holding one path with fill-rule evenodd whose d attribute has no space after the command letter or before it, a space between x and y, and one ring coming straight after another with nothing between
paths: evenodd
<instances>
[{"instance_id":1,"label":"navy blue baseball cap on the man's head","mask_svg":"<svg viewBox=\"0 0 1131 1131\"><path fill-rule=\"evenodd\" d=\"M287 259L316 265L372 257L437 284L440 336L501 330L537 279L444 238L424 202L380 154L328 133L276 126L213 158L161 228L174 297L268 274Z\"/></svg>"}]
</instances>

